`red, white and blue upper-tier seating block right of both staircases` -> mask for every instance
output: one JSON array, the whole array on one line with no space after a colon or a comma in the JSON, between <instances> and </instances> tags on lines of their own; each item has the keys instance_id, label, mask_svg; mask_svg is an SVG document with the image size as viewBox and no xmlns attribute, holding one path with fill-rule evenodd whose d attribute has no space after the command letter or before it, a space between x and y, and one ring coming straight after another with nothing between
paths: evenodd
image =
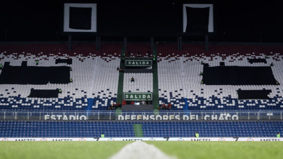
<instances>
[{"instance_id":1,"label":"red, white and blue upper-tier seating block right of both staircases","mask_svg":"<svg viewBox=\"0 0 283 159\"><path fill-rule=\"evenodd\" d=\"M204 63L210 67L219 66L219 62L225 62L225 66L265 66L272 69L276 81L282 83L282 47L262 46L212 46L210 51L204 51L198 45L183 45L182 52L174 49L174 45L157 45L158 53L158 86L159 104L171 103L173 109L184 110L260 110L283 109L283 87L265 84L258 85L201 85ZM269 51L268 51L269 50ZM271 52L273 51L273 52ZM250 63L248 58L265 58L267 63ZM204 72L205 73L205 72ZM218 76L217 74L214 74ZM213 77L212 77L213 78ZM219 78L219 77L218 77ZM272 90L270 99L238 100L237 90ZM176 101L176 102L172 102Z\"/></svg>"}]
</instances>

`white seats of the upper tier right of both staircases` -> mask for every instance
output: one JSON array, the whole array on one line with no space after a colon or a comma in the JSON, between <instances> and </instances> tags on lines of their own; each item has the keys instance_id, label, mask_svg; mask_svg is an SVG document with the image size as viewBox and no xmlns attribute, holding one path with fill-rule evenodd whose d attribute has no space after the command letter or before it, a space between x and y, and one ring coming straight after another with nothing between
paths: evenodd
<instances>
[{"instance_id":1,"label":"white seats of the upper tier right of both staircases","mask_svg":"<svg viewBox=\"0 0 283 159\"><path fill-rule=\"evenodd\" d=\"M178 57L178 59L177 59ZM197 55L183 55L179 56L166 56L159 57L158 62L158 87L159 87L159 98L164 98L168 101L172 101L173 98L176 100L183 98L188 99L188 106L200 106L200 108L207 108L209 106L215 106L219 104L219 108L224 108L225 106L237 106L243 108L244 106L280 106L283 107L282 98L283 96L283 56L280 53L274 53L273 56L267 58L267 63L249 63L247 58L265 58L264 54L260 56L255 56L253 53L247 55L234 54L234 56L226 56L222 58L219 54L212 54L207 57L203 54ZM170 61L170 62L169 62ZM274 73L275 79L281 85L246 85L246 86L231 86L231 85L201 85L202 76L200 76L201 71L203 71L204 63L209 63L210 66L219 66L219 62L225 62L225 66L270 66L273 62L274 66L272 71ZM237 90L272 90L270 93L270 98L275 98L275 100L247 100L247 101L237 101ZM182 91L180 91L182 90ZM170 97L169 92L172 92ZM218 98L216 101L212 101L212 96ZM227 101L228 97L233 99L232 101ZM202 98L202 100L200 100ZM174 99L175 100L175 99ZM164 102L164 100L159 100L159 104ZM169 102L168 102L169 103ZM226 107L227 108L227 107Z\"/></svg>"}]
</instances>

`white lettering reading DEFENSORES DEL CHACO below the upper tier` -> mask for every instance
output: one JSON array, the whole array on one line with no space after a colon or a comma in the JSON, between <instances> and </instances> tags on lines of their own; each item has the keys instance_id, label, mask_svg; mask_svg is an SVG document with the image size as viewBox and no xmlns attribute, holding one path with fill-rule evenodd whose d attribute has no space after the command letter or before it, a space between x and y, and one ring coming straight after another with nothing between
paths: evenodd
<instances>
[{"instance_id":1,"label":"white lettering reading DEFENSORES DEL CHACO below the upper tier","mask_svg":"<svg viewBox=\"0 0 283 159\"><path fill-rule=\"evenodd\" d=\"M199 115L118 115L118 120L199 120ZM238 120L238 115L206 115L204 120Z\"/></svg>"}]
</instances>

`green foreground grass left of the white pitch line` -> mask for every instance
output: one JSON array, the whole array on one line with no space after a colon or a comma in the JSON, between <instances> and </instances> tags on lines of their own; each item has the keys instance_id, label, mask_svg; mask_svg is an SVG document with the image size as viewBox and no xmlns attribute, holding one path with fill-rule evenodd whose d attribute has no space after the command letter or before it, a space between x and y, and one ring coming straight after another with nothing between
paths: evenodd
<instances>
[{"instance_id":1,"label":"green foreground grass left of the white pitch line","mask_svg":"<svg viewBox=\"0 0 283 159\"><path fill-rule=\"evenodd\" d=\"M4 141L0 159L107 159L131 141Z\"/></svg>"}]
</instances>

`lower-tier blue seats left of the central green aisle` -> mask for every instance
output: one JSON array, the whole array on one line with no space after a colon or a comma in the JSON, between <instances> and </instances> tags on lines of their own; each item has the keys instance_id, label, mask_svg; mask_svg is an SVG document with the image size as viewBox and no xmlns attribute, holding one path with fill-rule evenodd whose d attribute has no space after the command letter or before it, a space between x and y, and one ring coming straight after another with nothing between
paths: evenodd
<instances>
[{"instance_id":1,"label":"lower-tier blue seats left of the central green aisle","mask_svg":"<svg viewBox=\"0 0 283 159\"><path fill-rule=\"evenodd\" d=\"M129 122L0 121L0 136L8 137L134 137Z\"/></svg>"}]
</instances>

